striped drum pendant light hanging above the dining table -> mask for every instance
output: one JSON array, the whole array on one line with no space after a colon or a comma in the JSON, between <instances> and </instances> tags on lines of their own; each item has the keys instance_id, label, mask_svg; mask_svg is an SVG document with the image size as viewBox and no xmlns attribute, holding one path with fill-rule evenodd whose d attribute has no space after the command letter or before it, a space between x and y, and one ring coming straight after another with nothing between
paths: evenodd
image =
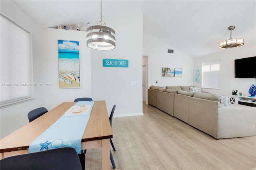
<instances>
[{"instance_id":1,"label":"striped drum pendant light hanging above the dining table","mask_svg":"<svg viewBox=\"0 0 256 170\"><path fill-rule=\"evenodd\" d=\"M100 0L100 21L96 26L88 26L87 46L92 49L110 50L116 47L116 32L105 26L106 23L102 21L102 0Z\"/></svg>"}]
</instances>

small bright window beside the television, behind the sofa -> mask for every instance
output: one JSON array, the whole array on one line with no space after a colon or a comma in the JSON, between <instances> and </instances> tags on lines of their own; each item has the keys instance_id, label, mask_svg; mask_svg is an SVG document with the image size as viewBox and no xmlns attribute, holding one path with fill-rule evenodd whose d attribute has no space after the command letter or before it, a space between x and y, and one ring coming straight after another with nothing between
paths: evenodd
<instances>
[{"instance_id":1,"label":"small bright window beside the television, behind the sofa","mask_svg":"<svg viewBox=\"0 0 256 170\"><path fill-rule=\"evenodd\" d=\"M202 87L220 88L220 59L203 63Z\"/></svg>"}]
</instances>

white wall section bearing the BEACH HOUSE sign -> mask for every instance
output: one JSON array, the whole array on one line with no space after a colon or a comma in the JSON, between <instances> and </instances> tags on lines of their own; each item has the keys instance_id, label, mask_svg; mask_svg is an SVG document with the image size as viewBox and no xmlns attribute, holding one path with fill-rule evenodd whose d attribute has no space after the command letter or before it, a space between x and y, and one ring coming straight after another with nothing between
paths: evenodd
<instances>
[{"instance_id":1,"label":"white wall section bearing the BEACH HOUSE sign","mask_svg":"<svg viewBox=\"0 0 256 170\"><path fill-rule=\"evenodd\" d=\"M92 50L92 97L105 100L114 117L142 115L142 18L141 12L116 14L106 26L116 32L116 48ZM113 57L114 56L114 57ZM103 59L128 59L128 67L103 67ZM131 85L135 81L136 85Z\"/></svg>"}]
</instances>

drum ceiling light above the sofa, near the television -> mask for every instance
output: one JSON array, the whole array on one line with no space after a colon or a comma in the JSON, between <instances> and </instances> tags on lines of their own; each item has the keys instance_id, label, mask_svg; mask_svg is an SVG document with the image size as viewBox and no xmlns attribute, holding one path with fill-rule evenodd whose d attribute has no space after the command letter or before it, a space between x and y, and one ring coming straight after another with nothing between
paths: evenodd
<instances>
[{"instance_id":1,"label":"drum ceiling light above the sofa, near the television","mask_svg":"<svg viewBox=\"0 0 256 170\"><path fill-rule=\"evenodd\" d=\"M234 30L235 28L236 28L235 26L228 27L228 30L230 30L230 39L220 43L221 49L240 47L240 46L244 45L244 39L242 39L242 38L233 39L232 38L232 30Z\"/></svg>"}]
</instances>

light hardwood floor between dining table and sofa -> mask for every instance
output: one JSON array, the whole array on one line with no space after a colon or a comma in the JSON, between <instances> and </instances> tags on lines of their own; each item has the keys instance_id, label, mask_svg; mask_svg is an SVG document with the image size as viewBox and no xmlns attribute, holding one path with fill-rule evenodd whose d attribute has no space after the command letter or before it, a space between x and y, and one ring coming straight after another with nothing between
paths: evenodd
<instances>
[{"instance_id":1,"label":"light hardwood floor between dining table and sofa","mask_svg":"<svg viewBox=\"0 0 256 170\"><path fill-rule=\"evenodd\" d=\"M256 136L215 140L146 103L143 113L112 120L116 170L256 170ZM86 170L97 169L101 148L87 150Z\"/></svg>"}]
</instances>

